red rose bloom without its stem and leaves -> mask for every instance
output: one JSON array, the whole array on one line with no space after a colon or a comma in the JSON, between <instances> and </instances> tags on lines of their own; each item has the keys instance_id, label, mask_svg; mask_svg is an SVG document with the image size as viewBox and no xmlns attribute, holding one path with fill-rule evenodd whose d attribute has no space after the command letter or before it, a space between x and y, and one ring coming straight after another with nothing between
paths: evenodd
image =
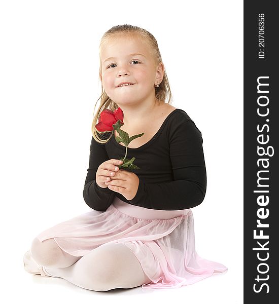
<instances>
[{"instance_id":1,"label":"red rose bloom without its stem and leaves","mask_svg":"<svg viewBox=\"0 0 279 304\"><path fill-rule=\"evenodd\" d=\"M123 124L124 113L120 107L118 107L114 112L106 109L100 113L99 122L96 124L96 129L99 132L113 131L113 125L119 120Z\"/></svg>"}]
</instances>

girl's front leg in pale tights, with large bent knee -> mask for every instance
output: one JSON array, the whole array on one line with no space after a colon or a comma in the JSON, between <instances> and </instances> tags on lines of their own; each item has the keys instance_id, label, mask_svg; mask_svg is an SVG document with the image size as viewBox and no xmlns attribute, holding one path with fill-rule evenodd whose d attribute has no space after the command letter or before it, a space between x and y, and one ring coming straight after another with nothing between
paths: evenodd
<instances>
[{"instance_id":1,"label":"girl's front leg in pale tights, with large bent knee","mask_svg":"<svg viewBox=\"0 0 279 304\"><path fill-rule=\"evenodd\" d=\"M121 243L103 244L67 268L45 270L50 276L94 291L133 288L151 281L133 252Z\"/></svg>"}]
</instances>

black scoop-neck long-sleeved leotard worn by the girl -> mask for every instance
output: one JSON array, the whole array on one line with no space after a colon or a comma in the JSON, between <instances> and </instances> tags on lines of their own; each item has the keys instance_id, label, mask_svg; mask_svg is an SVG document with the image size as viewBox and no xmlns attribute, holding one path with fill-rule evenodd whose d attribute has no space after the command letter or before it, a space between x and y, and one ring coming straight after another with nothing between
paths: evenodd
<instances>
[{"instance_id":1,"label":"black scoop-neck long-sleeved leotard worn by the girl","mask_svg":"<svg viewBox=\"0 0 279 304\"><path fill-rule=\"evenodd\" d=\"M102 136L109 138L110 134ZM187 113L178 108L173 110L147 143L138 148L128 146L126 157L135 157L134 164L140 167L131 170L140 184L135 197L128 201L95 182L98 166L109 159L123 158L126 147L115 140L114 134L106 144L96 142L92 136L83 190L86 204L104 211L117 196L124 202L149 209L181 210L199 205L206 191L202 142L201 132Z\"/></svg>"}]
</instances>

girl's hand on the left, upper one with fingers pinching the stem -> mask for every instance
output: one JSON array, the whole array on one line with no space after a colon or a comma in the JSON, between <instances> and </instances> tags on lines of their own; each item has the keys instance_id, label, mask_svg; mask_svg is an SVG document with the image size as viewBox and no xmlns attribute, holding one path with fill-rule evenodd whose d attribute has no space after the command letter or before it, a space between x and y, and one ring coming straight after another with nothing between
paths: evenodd
<instances>
[{"instance_id":1,"label":"girl's hand on the left, upper one with fingers pinching the stem","mask_svg":"<svg viewBox=\"0 0 279 304\"><path fill-rule=\"evenodd\" d=\"M120 160L111 159L99 165L96 172L96 183L101 188L107 188L104 182L110 181L111 178L119 171L118 165L123 164ZM117 168L115 170L115 168Z\"/></svg>"}]
</instances>

